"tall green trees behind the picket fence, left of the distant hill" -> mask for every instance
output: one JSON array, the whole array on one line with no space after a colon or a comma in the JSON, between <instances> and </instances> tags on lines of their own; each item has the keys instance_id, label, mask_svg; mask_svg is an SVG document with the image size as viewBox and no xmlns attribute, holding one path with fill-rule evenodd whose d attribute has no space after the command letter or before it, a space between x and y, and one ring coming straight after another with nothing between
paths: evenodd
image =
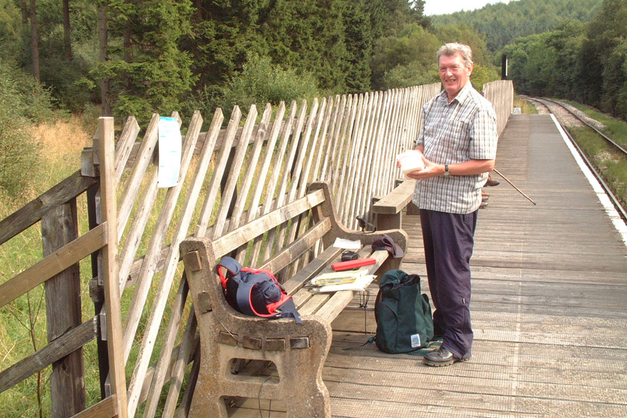
<instances>
[{"instance_id":1,"label":"tall green trees behind the picket fence, left of the distant hill","mask_svg":"<svg viewBox=\"0 0 627 418\"><path fill-rule=\"evenodd\" d=\"M21 4L0 0L0 54L28 70ZM435 82L435 50L453 39L475 50L486 68L477 75L497 77L475 29L434 31L423 10L424 0L37 0L41 79L60 107L102 99L102 111L142 122L277 92L292 100ZM272 93L246 91L264 82Z\"/></svg>"}]
</instances>

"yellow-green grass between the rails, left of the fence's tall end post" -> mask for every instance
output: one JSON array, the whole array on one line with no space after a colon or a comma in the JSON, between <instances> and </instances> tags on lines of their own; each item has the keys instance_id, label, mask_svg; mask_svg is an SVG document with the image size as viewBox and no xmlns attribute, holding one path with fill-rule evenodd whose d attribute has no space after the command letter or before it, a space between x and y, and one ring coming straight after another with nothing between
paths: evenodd
<instances>
[{"instance_id":1,"label":"yellow-green grass between the rails, left of the fence's tall end post","mask_svg":"<svg viewBox=\"0 0 627 418\"><path fill-rule=\"evenodd\" d=\"M36 127L31 134L42 144L40 171L37 172L35 187L24 196L3 196L0 199L0 219L15 212L27 201L45 192L80 167L80 155L84 146L91 146L93 132L87 132L82 120L77 116L61 118L52 123ZM86 231L87 213L84 197L77 202L79 230ZM35 224L0 246L0 283L26 270L42 258L42 236L40 224ZM82 277L91 275L88 261L81 263ZM0 369L6 369L24 357L31 355L36 348L47 344L45 297L43 285L17 298L0 309ZM82 286L83 319L93 316L93 302L88 288ZM95 343L85 346L86 359L96 359ZM90 354L90 353L93 353ZM93 362L86 362L93 368ZM97 367L97 366L96 366ZM15 387L0 394L0 417L37 417L50 415L49 375L52 368L41 371L20 382ZM91 376L90 376L91 375ZM98 373L86 373L86 385L98 387L93 382ZM98 391L99 392L99 391ZM99 396L99 393L96 394ZM88 394L88 403L95 397Z\"/></svg>"}]
</instances>

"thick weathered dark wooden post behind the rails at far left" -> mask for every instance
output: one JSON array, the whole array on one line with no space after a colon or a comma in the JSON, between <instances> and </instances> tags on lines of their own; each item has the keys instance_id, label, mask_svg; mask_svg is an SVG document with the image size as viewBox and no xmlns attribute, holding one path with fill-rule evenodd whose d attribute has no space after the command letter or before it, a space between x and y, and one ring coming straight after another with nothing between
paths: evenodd
<instances>
[{"instance_id":1,"label":"thick weathered dark wooden post behind the rails at far left","mask_svg":"<svg viewBox=\"0 0 627 418\"><path fill-rule=\"evenodd\" d=\"M76 199L49 210L41 219L43 255L78 238ZM81 287L78 263L44 284L48 342L81 325ZM85 409L83 349L52 364L50 403L53 417L70 417Z\"/></svg>"}]
</instances>

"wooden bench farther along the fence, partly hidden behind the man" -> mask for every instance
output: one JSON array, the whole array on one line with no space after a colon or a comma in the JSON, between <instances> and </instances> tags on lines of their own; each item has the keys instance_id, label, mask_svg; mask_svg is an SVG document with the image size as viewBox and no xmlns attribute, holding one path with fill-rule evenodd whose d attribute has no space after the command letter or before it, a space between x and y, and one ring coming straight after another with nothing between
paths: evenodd
<instances>
[{"instance_id":1,"label":"wooden bench farther along the fence, partly hidden behind the man","mask_svg":"<svg viewBox=\"0 0 627 418\"><path fill-rule=\"evenodd\" d=\"M412 203L416 180L403 180L392 192L389 192L372 206L376 214L377 229L400 229L403 226L403 209L408 215L417 215L418 208Z\"/></svg>"}]
</instances>

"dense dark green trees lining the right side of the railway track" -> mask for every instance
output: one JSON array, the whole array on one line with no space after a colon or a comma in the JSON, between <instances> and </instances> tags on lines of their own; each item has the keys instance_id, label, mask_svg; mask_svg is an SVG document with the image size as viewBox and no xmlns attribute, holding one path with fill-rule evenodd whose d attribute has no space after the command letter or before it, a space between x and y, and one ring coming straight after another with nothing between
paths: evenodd
<instances>
[{"instance_id":1,"label":"dense dark green trees lining the right side of the railway track","mask_svg":"<svg viewBox=\"0 0 627 418\"><path fill-rule=\"evenodd\" d=\"M520 93L578 100L627 119L627 0L604 0L589 23L518 38L501 54Z\"/></svg>"}]
</instances>

